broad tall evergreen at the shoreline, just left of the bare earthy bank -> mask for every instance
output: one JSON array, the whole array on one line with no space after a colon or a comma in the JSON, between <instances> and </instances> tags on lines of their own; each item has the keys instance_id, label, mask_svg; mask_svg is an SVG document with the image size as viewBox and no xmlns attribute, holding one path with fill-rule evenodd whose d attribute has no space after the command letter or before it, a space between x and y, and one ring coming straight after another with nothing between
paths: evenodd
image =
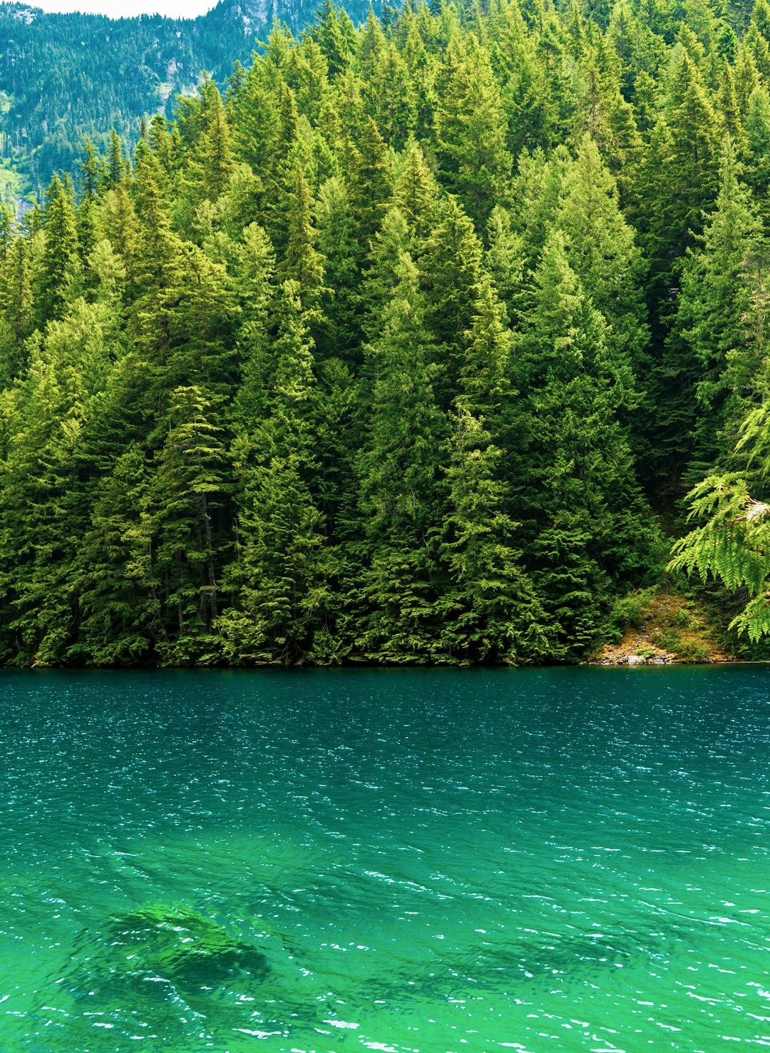
<instances>
[{"instance_id":1,"label":"broad tall evergreen at the shoreline, just left of the bare earthy bank","mask_svg":"<svg viewBox=\"0 0 770 1053\"><path fill-rule=\"evenodd\" d=\"M519 425L520 500L534 581L569 655L590 645L612 582L642 570L631 539L649 531L617 420L630 370L608 353L606 322L569 266L559 231L546 243L535 284L514 372L528 392Z\"/></svg>"}]
</instances>

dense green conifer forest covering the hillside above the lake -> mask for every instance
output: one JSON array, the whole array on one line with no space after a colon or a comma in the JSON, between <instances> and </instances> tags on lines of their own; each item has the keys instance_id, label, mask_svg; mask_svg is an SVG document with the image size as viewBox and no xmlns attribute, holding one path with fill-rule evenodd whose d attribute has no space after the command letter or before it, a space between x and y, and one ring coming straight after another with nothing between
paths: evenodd
<instances>
[{"instance_id":1,"label":"dense green conifer forest covering the hillside above the lake","mask_svg":"<svg viewBox=\"0 0 770 1053\"><path fill-rule=\"evenodd\" d=\"M672 542L770 622L770 6L386 23L3 212L0 660L578 660Z\"/></svg>"}]
</instances>

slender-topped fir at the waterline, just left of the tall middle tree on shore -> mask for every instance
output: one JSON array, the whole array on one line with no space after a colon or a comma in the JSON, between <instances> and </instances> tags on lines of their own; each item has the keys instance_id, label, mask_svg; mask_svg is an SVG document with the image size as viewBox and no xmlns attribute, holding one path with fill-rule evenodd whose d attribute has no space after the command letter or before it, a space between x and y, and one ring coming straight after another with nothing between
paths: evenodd
<instances>
[{"instance_id":1,"label":"slender-topped fir at the waterline, just left of the tall middle tree on shore","mask_svg":"<svg viewBox=\"0 0 770 1053\"><path fill-rule=\"evenodd\" d=\"M324 628L329 601L324 519L311 491L312 345L299 294L296 281L284 282L268 416L232 450L239 542L226 580L239 602L219 628L236 661L301 660Z\"/></svg>"}]
</instances>

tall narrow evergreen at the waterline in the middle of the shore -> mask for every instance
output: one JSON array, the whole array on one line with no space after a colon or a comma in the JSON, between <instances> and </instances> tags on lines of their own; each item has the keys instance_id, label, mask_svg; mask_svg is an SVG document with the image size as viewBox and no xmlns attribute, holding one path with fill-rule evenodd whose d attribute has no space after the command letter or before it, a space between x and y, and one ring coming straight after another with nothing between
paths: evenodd
<instances>
[{"instance_id":1,"label":"tall narrow evergreen at the waterline in the middle of the shore","mask_svg":"<svg viewBox=\"0 0 770 1053\"><path fill-rule=\"evenodd\" d=\"M424 298L408 254L394 277L381 336L369 352L370 424L357 465L363 536L351 542L361 567L353 631L370 658L428 661L441 652L437 484L445 423L433 395Z\"/></svg>"}]
</instances>

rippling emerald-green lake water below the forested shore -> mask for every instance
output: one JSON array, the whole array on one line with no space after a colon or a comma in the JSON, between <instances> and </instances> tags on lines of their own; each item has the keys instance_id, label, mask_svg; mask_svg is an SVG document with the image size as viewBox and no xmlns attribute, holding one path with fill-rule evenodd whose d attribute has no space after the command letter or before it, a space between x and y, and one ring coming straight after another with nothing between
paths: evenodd
<instances>
[{"instance_id":1,"label":"rippling emerald-green lake water below the forested shore","mask_svg":"<svg viewBox=\"0 0 770 1053\"><path fill-rule=\"evenodd\" d=\"M770 1046L769 689L0 673L0 1050Z\"/></svg>"}]
</instances>

